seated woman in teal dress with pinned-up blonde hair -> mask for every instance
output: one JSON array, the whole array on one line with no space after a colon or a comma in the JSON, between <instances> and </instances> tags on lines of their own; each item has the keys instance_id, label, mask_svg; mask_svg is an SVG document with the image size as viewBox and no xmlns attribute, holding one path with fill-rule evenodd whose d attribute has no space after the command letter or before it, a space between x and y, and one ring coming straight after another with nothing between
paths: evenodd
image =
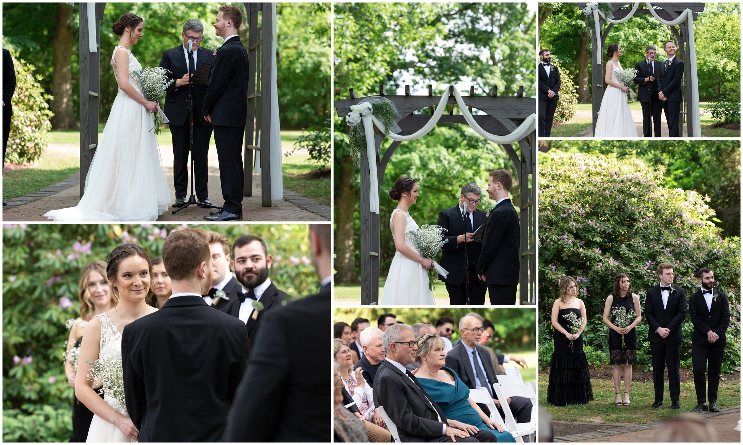
<instances>
[{"instance_id":1,"label":"seated woman in teal dress with pinned-up blonde hair","mask_svg":"<svg viewBox=\"0 0 743 445\"><path fill-rule=\"evenodd\" d=\"M424 334L416 340L418 351L415 360L421 367L415 370L415 378L433 399L447 419L473 426L475 432L480 429L493 432L499 442L516 442L510 432L504 431L499 423L491 421L470 399L470 388L459 379L452 369L444 366L447 353L444 352L444 340L435 334ZM471 429L467 429L472 433Z\"/></svg>"}]
</instances>

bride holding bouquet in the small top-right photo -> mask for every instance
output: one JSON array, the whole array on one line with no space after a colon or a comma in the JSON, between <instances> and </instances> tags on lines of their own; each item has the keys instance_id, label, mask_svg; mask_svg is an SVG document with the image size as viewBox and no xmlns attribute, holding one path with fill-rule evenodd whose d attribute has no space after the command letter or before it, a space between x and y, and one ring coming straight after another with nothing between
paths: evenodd
<instances>
[{"instance_id":1,"label":"bride holding bouquet in the small top-right photo","mask_svg":"<svg viewBox=\"0 0 743 445\"><path fill-rule=\"evenodd\" d=\"M635 121L632 112L629 111L627 103L627 92L629 87L619 82L619 57L622 55L622 47L618 43L609 44L606 56L611 60L606 63L606 91L601 99L601 108L594 137L637 137Z\"/></svg>"}]
</instances>

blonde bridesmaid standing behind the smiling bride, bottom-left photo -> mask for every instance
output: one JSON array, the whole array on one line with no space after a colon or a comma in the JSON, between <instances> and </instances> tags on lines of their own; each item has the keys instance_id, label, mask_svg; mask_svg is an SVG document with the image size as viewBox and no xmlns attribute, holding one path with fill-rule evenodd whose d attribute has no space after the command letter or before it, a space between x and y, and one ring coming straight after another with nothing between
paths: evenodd
<instances>
[{"instance_id":1,"label":"blonde bridesmaid standing behind the smiling bride, bottom-left photo","mask_svg":"<svg viewBox=\"0 0 743 445\"><path fill-rule=\"evenodd\" d=\"M77 299L80 300L80 317L75 319L70 329L70 336L67 338L67 357L71 357L73 348L80 349L82 332L85 330L88 320L116 306L116 301L111 299L111 283L108 282L108 277L106 277L105 262L93 261L82 268L80 283L77 286ZM72 360L65 360L65 375L67 375L67 383L71 388L74 388L77 372ZM93 389L103 398L100 383L94 385ZM80 403L76 396L73 397L72 437L70 441L85 442L93 420L93 412Z\"/></svg>"}]
</instances>

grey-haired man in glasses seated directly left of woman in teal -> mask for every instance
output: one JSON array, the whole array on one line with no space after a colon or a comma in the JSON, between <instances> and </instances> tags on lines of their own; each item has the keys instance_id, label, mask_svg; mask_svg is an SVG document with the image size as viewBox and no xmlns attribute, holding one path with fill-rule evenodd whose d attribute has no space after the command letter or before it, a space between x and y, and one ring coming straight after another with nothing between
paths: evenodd
<instances>
[{"instance_id":1,"label":"grey-haired man in glasses seated directly left of woman in teal","mask_svg":"<svg viewBox=\"0 0 743 445\"><path fill-rule=\"evenodd\" d=\"M496 442L496 436L472 425L447 419L405 365L418 350L413 329L403 323L390 326L383 337L386 359L377 374L374 400L398 427L402 442Z\"/></svg>"}]
</instances>

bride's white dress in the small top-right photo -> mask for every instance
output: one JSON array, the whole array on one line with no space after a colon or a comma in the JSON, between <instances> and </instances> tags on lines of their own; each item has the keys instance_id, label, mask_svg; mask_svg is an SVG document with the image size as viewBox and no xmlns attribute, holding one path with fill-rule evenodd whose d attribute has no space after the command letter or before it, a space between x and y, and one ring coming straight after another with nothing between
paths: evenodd
<instances>
[{"instance_id":1,"label":"bride's white dress in the small top-right photo","mask_svg":"<svg viewBox=\"0 0 743 445\"><path fill-rule=\"evenodd\" d=\"M622 66L619 62L610 63L612 66L611 80L619 83L619 70ZM637 137L635 121L632 119L632 112L629 111L627 103L627 93L623 90L611 85L606 86L603 99L601 99L599 116L596 119L594 137Z\"/></svg>"}]
</instances>

